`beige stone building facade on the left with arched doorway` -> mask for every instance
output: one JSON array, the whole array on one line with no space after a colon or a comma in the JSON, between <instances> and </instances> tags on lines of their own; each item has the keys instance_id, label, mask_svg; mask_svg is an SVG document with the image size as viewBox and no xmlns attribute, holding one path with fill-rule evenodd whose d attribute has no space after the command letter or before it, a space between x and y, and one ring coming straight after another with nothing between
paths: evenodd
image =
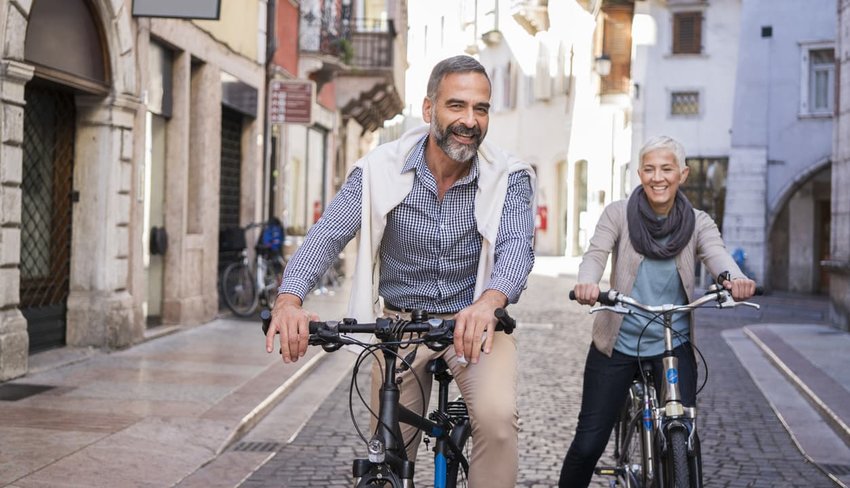
<instances>
[{"instance_id":1,"label":"beige stone building facade on the left with arched doorway","mask_svg":"<svg viewBox=\"0 0 850 488\"><path fill-rule=\"evenodd\" d=\"M220 222L261 211L266 6L0 2L0 380L215 317Z\"/></svg>"}]
</instances>

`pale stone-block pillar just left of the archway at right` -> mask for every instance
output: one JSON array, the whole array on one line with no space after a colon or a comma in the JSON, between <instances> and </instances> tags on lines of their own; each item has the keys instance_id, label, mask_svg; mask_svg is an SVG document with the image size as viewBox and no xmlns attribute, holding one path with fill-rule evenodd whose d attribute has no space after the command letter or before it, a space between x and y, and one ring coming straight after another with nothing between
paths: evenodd
<instances>
[{"instance_id":1,"label":"pale stone-block pillar just left of the archway at right","mask_svg":"<svg viewBox=\"0 0 850 488\"><path fill-rule=\"evenodd\" d=\"M767 256L767 148L732 147L726 181L723 240L730 253L738 247L744 250L747 267L755 275L750 278L763 282Z\"/></svg>"}]
</instances>

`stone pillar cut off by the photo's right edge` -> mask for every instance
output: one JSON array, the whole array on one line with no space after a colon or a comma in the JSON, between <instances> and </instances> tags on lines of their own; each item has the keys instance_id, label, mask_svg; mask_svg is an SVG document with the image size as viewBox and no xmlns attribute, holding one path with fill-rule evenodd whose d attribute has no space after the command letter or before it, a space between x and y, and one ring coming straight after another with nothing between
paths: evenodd
<instances>
[{"instance_id":1,"label":"stone pillar cut off by the photo's right edge","mask_svg":"<svg viewBox=\"0 0 850 488\"><path fill-rule=\"evenodd\" d=\"M832 224L829 275L830 318L850 330L850 0L838 2L838 116L832 155Z\"/></svg>"}]
</instances>

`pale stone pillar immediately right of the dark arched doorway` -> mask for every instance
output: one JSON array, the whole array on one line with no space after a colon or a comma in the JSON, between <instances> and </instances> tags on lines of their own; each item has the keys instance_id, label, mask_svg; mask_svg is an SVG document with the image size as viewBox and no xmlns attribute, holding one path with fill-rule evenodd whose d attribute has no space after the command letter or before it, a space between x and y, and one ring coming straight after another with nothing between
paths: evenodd
<instances>
[{"instance_id":1,"label":"pale stone pillar immediately right of the dark arched doorway","mask_svg":"<svg viewBox=\"0 0 850 488\"><path fill-rule=\"evenodd\" d=\"M129 288L133 122L129 99L79 96L68 296L67 343L126 347L143 324L133 320Z\"/></svg>"}]
</instances>

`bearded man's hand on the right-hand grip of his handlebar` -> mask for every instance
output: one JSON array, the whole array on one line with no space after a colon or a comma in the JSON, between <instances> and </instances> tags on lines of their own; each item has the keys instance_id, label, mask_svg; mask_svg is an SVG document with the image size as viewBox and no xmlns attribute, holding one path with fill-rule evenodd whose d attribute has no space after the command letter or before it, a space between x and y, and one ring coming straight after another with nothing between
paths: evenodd
<instances>
[{"instance_id":1,"label":"bearded man's hand on the right-hand grip of his handlebar","mask_svg":"<svg viewBox=\"0 0 850 488\"><path fill-rule=\"evenodd\" d=\"M455 353L468 359L471 363L478 362L483 350L490 354L493 347L493 334L496 330L497 308L507 306L508 298L500 291L486 290L472 305L455 315L454 347ZM482 348L482 337L484 347Z\"/></svg>"}]
</instances>

